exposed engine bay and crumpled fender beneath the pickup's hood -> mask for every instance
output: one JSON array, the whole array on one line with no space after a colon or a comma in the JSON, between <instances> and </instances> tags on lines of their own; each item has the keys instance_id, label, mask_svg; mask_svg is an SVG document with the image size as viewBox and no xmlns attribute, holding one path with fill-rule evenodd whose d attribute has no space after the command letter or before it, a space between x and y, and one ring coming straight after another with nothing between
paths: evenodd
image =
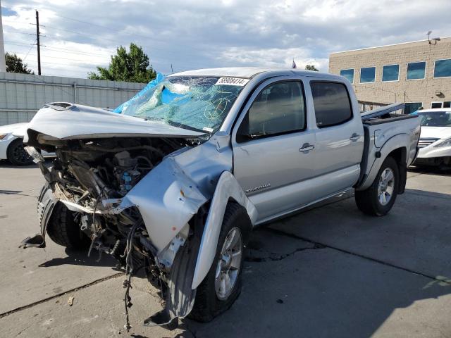
<instances>
[{"instance_id":1,"label":"exposed engine bay and crumpled fender beneath the pickup's hood","mask_svg":"<svg viewBox=\"0 0 451 338\"><path fill-rule=\"evenodd\" d=\"M88 256L97 251L100 259L106 253L125 268L126 312L131 305L130 278L144 269L166 303L144 323L169 325L185 317L194 302L192 275L203 231L203 223L192 216L207 199L172 156L163 158L188 151L199 140L47 137L41 142L54 146L57 157L48 169L39 152L27 147L47 185L38 204L41 234L25 239L23 246L45 246L46 228L58 226L51 223L52 213L56 204L63 204L89 238Z\"/></svg>"}]
</instances>

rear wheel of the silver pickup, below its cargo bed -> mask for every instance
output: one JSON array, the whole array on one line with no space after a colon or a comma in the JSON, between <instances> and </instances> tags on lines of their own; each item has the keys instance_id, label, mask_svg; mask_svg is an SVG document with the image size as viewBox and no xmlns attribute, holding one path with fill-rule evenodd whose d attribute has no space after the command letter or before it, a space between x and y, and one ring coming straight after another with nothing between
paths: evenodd
<instances>
[{"instance_id":1,"label":"rear wheel of the silver pickup, below its cargo bed","mask_svg":"<svg viewBox=\"0 0 451 338\"><path fill-rule=\"evenodd\" d=\"M387 175L387 173L390 173L390 171L387 170L390 170L391 173L393 173L393 183L388 184L384 187L384 177L385 175ZM383 175L384 177L381 178ZM381 190L379 190L379 184L382 184L383 186ZM354 196L357 207L360 211L366 213L367 215L386 215L393 207L393 204L395 204L397 193L399 192L399 186L400 170L398 168L398 165L393 157L385 158L385 161L383 161L381 169L379 169L378 175L376 175L376 178L374 179L373 184L371 184L371 187L362 191L356 190ZM390 187L393 190L389 189ZM382 192L384 192L384 188L386 189L385 193L383 194L385 196L385 204L383 201L384 196L382 196L381 194ZM389 191L391 193L389 193Z\"/></svg>"}]
</instances>

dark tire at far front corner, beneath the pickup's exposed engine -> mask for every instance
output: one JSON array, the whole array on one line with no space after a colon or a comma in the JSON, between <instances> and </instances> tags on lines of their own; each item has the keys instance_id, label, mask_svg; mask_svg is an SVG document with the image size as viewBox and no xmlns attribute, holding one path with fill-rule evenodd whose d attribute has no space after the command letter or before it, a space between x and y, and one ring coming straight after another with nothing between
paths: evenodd
<instances>
[{"instance_id":1,"label":"dark tire at far front corner, beneath the pickup's exposed engine","mask_svg":"<svg viewBox=\"0 0 451 338\"><path fill-rule=\"evenodd\" d=\"M47 235L52 241L71 249L85 249L89 238L74 221L74 213L64 204L56 204L47 225Z\"/></svg>"}]
</instances>

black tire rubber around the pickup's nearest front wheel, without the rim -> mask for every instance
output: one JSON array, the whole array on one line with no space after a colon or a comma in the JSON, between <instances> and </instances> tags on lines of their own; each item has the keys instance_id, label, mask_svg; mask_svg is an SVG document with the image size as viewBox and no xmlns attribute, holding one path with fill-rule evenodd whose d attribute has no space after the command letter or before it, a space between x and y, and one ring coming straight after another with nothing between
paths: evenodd
<instances>
[{"instance_id":1,"label":"black tire rubber around the pickup's nearest front wheel, without the rim","mask_svg":"<svg viewBox=\"0 0 451 338\"><path fill-rule=\"evenodd\" d=\"M249 215L245 208L236 203L228 204L226 208L226 213L224 214L223 224L221 227L221 232L218 239L218 247L216 249L216 256L214 258L213 264L206 275L202 283L197 287L196 299L194 300L194 306L188 318L197 320L199 322L209 322L213 320L216 316L220 315L224 311L228 310L232 306L233 302L237 299L241 292L241 275L242 275L242 262L244 261L245 244L249 239L249 233L251 230L251 223L249 220ZM241 256L240 261L236 265L239 266L237 269L237 275L235 277L235 282L229 294L223 294L222 299L218 296L216 292L215 282L216 282L216 268L218 268L218 263L221 255L221 251L226 242L228 234L232 231L240 232L241 235ZM237 251L235 251L236 253Z\"/></svg>"}]
</instances>

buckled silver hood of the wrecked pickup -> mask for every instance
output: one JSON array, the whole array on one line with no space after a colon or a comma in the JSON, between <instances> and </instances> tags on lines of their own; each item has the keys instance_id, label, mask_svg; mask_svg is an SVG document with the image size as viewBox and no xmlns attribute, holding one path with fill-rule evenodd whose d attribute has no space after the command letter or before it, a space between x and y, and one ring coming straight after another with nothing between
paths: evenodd
<instances>
[{"instance_id":1,"label":"buckled silver hood of the wrecked pickup","mask_svg":"<svg viewBox=\"0 0 451 338\"><path fill-rule=\"evenodd\" d=\"M70 104L67 107L53 104L44 106L28 124L25 143L30 141L30 130L57 139L199 137L204 134L80 104Z\"/></svg>"}]
</instances>

